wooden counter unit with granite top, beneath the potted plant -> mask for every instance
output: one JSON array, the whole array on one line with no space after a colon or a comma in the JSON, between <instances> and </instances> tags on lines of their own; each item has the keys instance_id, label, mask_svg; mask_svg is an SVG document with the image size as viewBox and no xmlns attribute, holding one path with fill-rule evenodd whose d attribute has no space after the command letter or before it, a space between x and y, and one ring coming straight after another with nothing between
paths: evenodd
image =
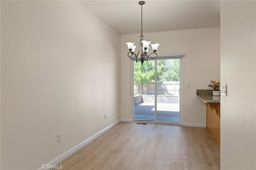
<instances>
[{"instance_id":1,"label":"wooden counter unit with granite top, beneath the potted plant","mask_svg":"<svg viewBox=\"0 0 256 170\"><path fill-rule=\"evenodd\" d=\"M220 149L220 96L212 90L196 90L196 96L206 105L206 128Z\"/></svg>"}]
</instances>

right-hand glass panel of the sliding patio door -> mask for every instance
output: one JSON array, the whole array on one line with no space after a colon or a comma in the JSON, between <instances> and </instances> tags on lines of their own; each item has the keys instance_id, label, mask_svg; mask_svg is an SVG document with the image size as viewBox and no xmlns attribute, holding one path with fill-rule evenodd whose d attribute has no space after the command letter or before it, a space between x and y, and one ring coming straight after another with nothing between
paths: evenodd
<instances>
[{"instance_id":1,"label":"right-hand glass panel of the sliding patio door","mask_svg":"<svg viewBox=\"0 0 256 170\"><path fill-rule=\"evenodd\" d=\"M180 59L156 62L156 121L180 122Z\"/></svg>"}]
</instances>

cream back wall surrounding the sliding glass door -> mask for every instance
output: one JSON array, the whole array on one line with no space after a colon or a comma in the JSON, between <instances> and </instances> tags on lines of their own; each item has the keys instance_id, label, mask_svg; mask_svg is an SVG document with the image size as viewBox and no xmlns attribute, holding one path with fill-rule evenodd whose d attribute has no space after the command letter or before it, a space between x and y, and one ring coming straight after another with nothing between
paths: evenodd
<instances>
[{"instance_id":1,"label":"cream back wall surrounding the sliding glass door","mask_svg":"<svg viewBox=\"0 0 256 170\"><path fill-rule=\"evenodd\" d=\"M138 30L139 31L139 30ZM121 117L132 119L130 59L126 42L138 45L140 34L121 36ZM206 125L206 107L196 97L196 89L210 89L210 80L220 81L220 27L144 33L145 40L159 43L158 55L184 53L183 124ZM190 83L190 88L187 84Z\"/></svg>"}]
</instances>

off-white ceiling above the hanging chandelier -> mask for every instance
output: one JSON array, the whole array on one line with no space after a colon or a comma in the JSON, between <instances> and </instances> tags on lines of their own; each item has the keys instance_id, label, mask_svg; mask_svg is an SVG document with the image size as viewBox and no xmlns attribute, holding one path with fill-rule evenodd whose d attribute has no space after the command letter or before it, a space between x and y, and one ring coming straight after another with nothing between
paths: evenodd
<instances>
[{"instance_id":1,"label":"off-white ceiling above the hanging chandelier","mask_svg":"<svg viewBox=\"0 0 256 170\"><path fill-rule=\"evenodd\" d=\"M144 0L143 33L220 26L219 0ZM121 35L140 33L139 0L80 1Z\"/></svg>"}]
</instances>

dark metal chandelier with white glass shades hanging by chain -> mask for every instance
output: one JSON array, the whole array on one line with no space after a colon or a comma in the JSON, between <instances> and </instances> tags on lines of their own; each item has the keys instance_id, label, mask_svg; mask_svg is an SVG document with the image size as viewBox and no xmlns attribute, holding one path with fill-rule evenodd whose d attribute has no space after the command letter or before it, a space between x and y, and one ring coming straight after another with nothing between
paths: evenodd
<instances>
[{"instance_id":1,"label":"dark metal chandelier with white glass shades hanging by chain","mask_svg":"<svg viewBox=\"0 0 256 170\"><path fill-rule=\"evenodd\" d=\"M144 1L139 2L139 5L141 5L141 31L140 31L140 37L139 37L140 47L139 47L138 53L137 54L134 53L135 48L136 48L136 46L134 46L134 43L130 43L130 42L126 43L128 46L128 49L129 49L128 57L132 60L136 60L136 63L137 63L137 61L140 61L141 64L143 64L144 61L148 61L148 58L155 59L157 57L156 50L159 46L158 43L151 44L153 53L148 55L148 49L150 48L149 44L151 43L151 41L145 41L143 34L142 34L142 5L144 5L144 4L145 4ZM140 51L141 51L141 54L140 54L140 58L139 58L138 55L139 55Z\"/></svg>"}]
</instances>

